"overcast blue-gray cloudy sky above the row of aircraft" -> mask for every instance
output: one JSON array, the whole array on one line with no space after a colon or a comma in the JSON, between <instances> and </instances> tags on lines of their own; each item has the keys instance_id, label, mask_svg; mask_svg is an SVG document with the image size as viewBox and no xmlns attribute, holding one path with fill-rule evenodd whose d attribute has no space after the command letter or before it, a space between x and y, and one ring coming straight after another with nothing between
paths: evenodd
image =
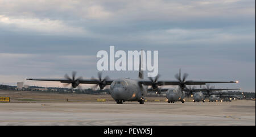
<instances>
[{"instance_id":1,"label":"overcast blue-gray cloudy sky above the row of aircraft","mask_svg":"<svg viewBox=\"0 0 256 137\"><path fill-rule=\"evenodd\" d=\"M239 80L216 88L255 92L255 1L0 0L0 82L97 76L96 53L158 50L159 73L174 80ZM104 72L137 78L138 72Z\"/></svg>"}]
</instances>

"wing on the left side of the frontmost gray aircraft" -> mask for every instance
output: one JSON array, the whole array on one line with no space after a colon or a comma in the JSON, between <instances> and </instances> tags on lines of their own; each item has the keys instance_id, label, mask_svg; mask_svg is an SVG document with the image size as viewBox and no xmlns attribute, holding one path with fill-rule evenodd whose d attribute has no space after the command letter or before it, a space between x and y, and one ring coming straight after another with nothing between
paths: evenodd
<instances>
[{"instance_id":1,"label":"wing on the left side of the frontmost gray aircraft","mask_svg":"<svg viewBox=\"0 0 256 137\"><path fill-rule=\"evenodd\" d=\"M34 80L34 81L57 81L61 83L72 83L72 80L67 79L34 79L34 78L28 78L27 80ZM82 78L79 80L80 84L98 84L97 79L91 79L91 78ZM113 82L113 80L106 80L106 85L110 85Z\"/></svg>"}]
</instances>

